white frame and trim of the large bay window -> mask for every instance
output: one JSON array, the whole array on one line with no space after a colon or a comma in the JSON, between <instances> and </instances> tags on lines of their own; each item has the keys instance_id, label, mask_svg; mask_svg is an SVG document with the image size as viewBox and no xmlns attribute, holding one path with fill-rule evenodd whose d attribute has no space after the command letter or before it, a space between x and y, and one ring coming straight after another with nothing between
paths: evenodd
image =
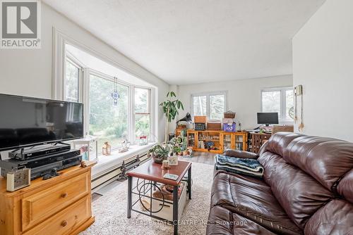
<instances>
[{"instance_id":1,"label":"white frame and trim of the large bay window","mask_svg":"<svg viewBox=\"0 0 353 235\"><path fill-rule=\"evenodd\" d=\"M80 79L80 102L85 103L85 108L84 108L84 120L83 122L85 130L84 133L87 135L89 133L89 77L92 72L97 72L100 76L106 76L109 79L112 79L111 76L109 75L104 75L102 72L98 72L95 70L92 70L90 68L87 68L87 66L83 65L82 63L78 63L79 61L74 58L74 56L70 55L70 53L67 53L66 51L66 44L70 44L72 46L77 47L78 49L85 51L86 53L90 53L90 55L95 56L96 58L109 63L110 65L118 68L119 70L122 70L124 72L127 72L128 74L137 77L139 79L143 80L143 76L137 74L136 72L124 67L124 65L121 65L120 63L117 63L116 61L112 61L112 59L108 58L107 56L102 55L101 53L98 53L94 49L90 49L90 47L85 46L84 44L81 44L80 42L76 41L75 39L71 39L71 37L68 37L66 34L63 32L60 32L59 30L56 29L56 27L53 27L53 70L52 70L52 99L60 100L63 101L65 99L65 87L64 87L64 81L65 81L65 76L66 76L66 56L68 56L71 61L76 62L78 65L82 66L82 72L81 72L81 79ZM114 78L113 78L114 79ZM134 127L134 122L135 122L135 115L134 115L134 89L135 87L134 84L128 84L124 81L119 80L118 81L121 84L125 84L129 87L128 89L128 140L131 141L131 143L136 144L135 140L135 127ZM157 141L158 139L158 115L157 115L157 108L158 108L158 103L157 103L157 87L143 87L143 88L148 88L150 89L150 141Z\"/></svg>"}]
</instances>

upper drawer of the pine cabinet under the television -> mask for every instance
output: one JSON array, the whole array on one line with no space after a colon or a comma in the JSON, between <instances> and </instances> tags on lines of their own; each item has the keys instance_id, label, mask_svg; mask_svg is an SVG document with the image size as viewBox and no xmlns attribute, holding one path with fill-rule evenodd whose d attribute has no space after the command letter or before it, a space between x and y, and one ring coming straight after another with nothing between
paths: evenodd
<instances>
[{"instance_id":1,"label":"upper drawer of the pine cabinet under the television","mask_svg":"<svg viewBox=\"0 0 353 235\"><path fill-rule=\"evenodd\" d=\"M90 191L90 174L80 174L22 199L22 231L54 215Z\"/></svg>"}]
</instances>

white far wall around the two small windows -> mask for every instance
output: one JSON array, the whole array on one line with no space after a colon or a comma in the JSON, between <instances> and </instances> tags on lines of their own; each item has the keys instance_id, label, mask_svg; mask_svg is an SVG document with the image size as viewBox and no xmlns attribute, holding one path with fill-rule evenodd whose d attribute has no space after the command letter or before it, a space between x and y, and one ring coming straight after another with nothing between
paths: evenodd
<instances>
[{"instance_id":1,"label":"white far wall around the two small windows","mask_svg":"<svg viewBox=\"0 0 353 235\"><path fill-rule=\"evenodd\" d=\"M184 111L179 113L179 118L184 118L186 113L191 113L191 94L208 91L227 91L228 109L237 113L237 120L241 122L242 129L257 127L256 113L261 112L261 90L272 87L292 87L292 75L276 77L253 78L247 80L233 80L230 82L209 82L203 84L170 86L169 90L177 89L178 98L184 103ZM174 123L170 125L169 132L173 132Z\"/></svg>"}]
</instances>

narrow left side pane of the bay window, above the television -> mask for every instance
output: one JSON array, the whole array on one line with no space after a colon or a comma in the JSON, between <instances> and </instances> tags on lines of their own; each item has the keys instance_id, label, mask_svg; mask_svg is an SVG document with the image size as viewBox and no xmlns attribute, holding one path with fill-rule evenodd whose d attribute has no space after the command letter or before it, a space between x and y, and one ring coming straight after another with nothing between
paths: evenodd
<instances>
[{"instance_id":1,"label":"narrow left side pane of the bay window, above the television","mask_svg":"<svg viewBox=\"0 0 353 235\"><path fill-rule=\"evenodd\" d=\"M65 100L78 102L78 80L80 70L66 60Z\"/></svg>"}]
</instances>

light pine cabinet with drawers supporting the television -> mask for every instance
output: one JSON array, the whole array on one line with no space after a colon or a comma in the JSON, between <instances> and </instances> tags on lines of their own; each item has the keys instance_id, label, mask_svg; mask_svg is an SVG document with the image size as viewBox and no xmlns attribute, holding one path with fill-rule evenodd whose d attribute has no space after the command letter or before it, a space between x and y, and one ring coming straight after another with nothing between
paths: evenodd
<instances>
[{"instance_id":1,"label":"light pine cabinet with drawers supporting the television","mask_svg":"<svg viewBox=\"0 0 353 235\"><path fill-rule=\"evenodd\" d=\"M94 222L91 167L70 167L15 192L0 178L0 234L78 234Z\"/></svg>"}]
</instances>

